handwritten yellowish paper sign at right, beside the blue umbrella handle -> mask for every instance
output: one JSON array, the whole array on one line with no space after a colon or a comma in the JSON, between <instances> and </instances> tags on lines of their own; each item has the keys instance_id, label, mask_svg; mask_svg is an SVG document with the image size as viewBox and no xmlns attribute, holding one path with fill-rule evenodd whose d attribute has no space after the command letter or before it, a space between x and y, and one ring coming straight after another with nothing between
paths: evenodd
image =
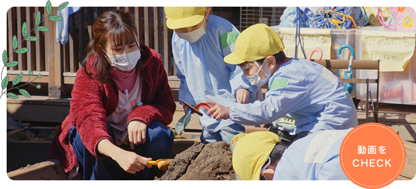
<instances>
[{"instance_id":1,"label":"handwritten yellowish paper sign at right, beside the blue umbrella handle","mask_svg":"<svg viewBox=\"0 0 416 189\"><path fill-rule=\"evenodd\" d=\"M380 72L403 72L414 53L416 32L362 31L363 60L380 60Z\"/></svg>"}]
</instances>

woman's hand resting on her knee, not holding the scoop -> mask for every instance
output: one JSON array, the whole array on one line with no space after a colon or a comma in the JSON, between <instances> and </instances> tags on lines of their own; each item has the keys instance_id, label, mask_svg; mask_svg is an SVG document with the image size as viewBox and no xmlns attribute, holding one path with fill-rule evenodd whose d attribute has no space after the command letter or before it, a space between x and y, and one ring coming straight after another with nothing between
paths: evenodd
<instances>
[{"instance_id":1,"label":"woman's hand resting on her knee, not holding the scoop","mask_svg":"<svg viewBox=\"0 0 416 189\"><path fill-rule=\"evenodd\" d=\"M134 149L134 145L144 144L146 141L146 129L147 125L142 121L132 121L128 124L128 141L131 149Z\"/></svg>"}]
</instances>

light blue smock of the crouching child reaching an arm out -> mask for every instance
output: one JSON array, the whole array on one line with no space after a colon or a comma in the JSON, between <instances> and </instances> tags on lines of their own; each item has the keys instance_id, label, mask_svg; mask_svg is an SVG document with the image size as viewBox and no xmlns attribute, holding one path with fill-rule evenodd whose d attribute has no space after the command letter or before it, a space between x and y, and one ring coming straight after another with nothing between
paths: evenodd
<instances>
[{"instance_id":1,"label":"light blue smock of the crouching child reaching an arm out","mask_svg":"<svg viewBox=\"0 0 416 189\"><path fill-rule=\"evenodd\" d=\"M273 123L291 135L358 126L353 99L343 83L320 64L292 58L269 81L264 101L229 105L230 119L243 125Z\"/></svg>"}]
</instances>

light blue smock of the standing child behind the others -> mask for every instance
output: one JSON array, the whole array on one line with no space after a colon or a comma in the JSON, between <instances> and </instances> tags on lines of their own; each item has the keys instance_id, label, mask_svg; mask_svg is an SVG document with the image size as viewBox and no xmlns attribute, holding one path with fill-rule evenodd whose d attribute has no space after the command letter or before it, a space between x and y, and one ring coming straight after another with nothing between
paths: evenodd
<instances>
[{"instance_id":1,"label":"light blue smock of the standing child behind the others","mask_svg":"<svg viewBox=\"0 0 416 189\"><path fill-rule=\"evenodd\" d=\"M231 54L239 31L224 18L209 15L205 34L196 42L190 43L172 36L172 54L181 80L179 98L195 106L204 101L213 101L222 105L237 102L235 93L240 88L250 91L249 102L258 100L261 89L252 86L237 65L224 62L224 57ZM181 103L182 104L182 103ZM200 111L201 126L209 132L235 124L231 120L216 121Z\"/></svg>"}]
</instances>

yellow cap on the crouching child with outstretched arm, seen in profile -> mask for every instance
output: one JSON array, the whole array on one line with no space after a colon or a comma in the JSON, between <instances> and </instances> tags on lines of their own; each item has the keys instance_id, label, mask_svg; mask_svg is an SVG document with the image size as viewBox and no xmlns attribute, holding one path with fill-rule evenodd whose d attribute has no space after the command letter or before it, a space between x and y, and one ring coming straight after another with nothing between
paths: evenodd
<instances>
[{"instance_id":1,"label":"yellow cap on the crouching child with outstretched arm, seen in profile","mask_svg":"<svg viewBox=\"0 0 416 189\"><path fill-rule=\"evenodd\" d=\"M229 64L256 61L283 51L284 45L279 35L264 23L250 26L238 35L234 52L224 58Z\"/></svg>"}]
</instances>

